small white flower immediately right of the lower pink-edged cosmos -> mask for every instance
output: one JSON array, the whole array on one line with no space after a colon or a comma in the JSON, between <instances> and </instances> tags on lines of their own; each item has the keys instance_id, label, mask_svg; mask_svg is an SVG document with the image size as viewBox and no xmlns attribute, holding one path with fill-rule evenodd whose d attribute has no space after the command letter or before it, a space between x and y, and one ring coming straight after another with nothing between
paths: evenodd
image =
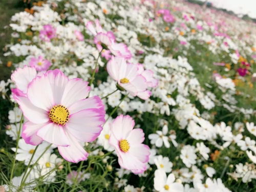
<instances>
[{"instance_id":1,"label":"small white flower immediately right of the lower pink-edged cosmos","mask_svg":"<svg viewBox=\"0 0 256 192\"><path fill-rule=\"evenodd\" d=\"M168 126L164 125L162 131L156 131L156 134L148 135L148 138L151 140L151 144L155 144L157 147L161 147L163 144L166 148L170 147L168 137L166 136L168 132Z\"/></svg>"}]
</instances>

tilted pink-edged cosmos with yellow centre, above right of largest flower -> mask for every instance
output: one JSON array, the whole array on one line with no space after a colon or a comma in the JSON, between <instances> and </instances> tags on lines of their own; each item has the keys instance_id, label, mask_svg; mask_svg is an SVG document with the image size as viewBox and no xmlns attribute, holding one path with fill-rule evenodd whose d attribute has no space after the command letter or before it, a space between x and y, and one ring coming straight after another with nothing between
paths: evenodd
<instances>
[{"instance_id":1,"label":"tilted pink-edged cosmos with yellow centre, above right of largest flower","mask_svg":"<svg viewBox=\"0 0 256 192\"><path fill-rule=\"evenodd\" d=\"M123 57L112 57L106 65L106 70L119 86L132 96L138 96L144 100L151 96L151 92L146 90L148 81L140 74L138 65L126 63Z\"/></svg>"}]
</instances>

